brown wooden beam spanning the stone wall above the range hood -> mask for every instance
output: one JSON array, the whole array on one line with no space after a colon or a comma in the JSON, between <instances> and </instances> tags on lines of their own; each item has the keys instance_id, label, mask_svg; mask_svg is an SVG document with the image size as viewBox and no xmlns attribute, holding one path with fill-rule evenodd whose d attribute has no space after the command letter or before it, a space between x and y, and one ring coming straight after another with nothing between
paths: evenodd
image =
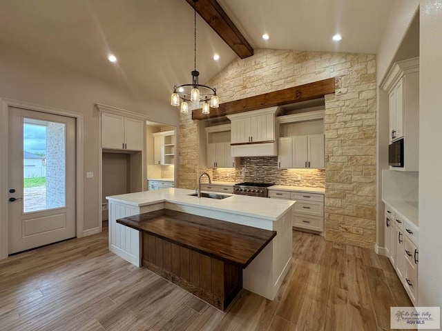
<instances>
[{"instance_id":1,"label":"brown wooden beam spanning the stone wall above the range hood","mask_svg":"<svg viewBox=\"0 0 442 331\"><path fill-rule=\"evenodd\" d=\"M211 108L210 114L203 114L201 108L195 109L192 112L192 119L213 119L228 114L237 114L238 112L249 112L250 110L282 106L289 103L322 98L325 94L334 92L334 78L323 79L322 81L315 81L314 83L295 86L293 88L285 88L284 90L221 103L219 108Z\"/></svg>"}]
</instances>

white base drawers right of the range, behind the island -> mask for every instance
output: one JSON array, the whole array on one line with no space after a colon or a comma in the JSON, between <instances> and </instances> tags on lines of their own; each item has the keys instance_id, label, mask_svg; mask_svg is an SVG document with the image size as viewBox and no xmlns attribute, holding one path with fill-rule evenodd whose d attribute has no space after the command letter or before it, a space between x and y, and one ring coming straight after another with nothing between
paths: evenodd
<instances>
[{"instance_id":1,"label":"white base drawers right of the range, behind the island","mask_svg":"<svg viewBox=\"0 0 442 331\"><path fill-rule=\"evenodd\" d=\"M324 194L296 190L271 190L269 198L296 200L292 208L292 226L301 230L324 231Z\"/></svg>"}]
</instances>

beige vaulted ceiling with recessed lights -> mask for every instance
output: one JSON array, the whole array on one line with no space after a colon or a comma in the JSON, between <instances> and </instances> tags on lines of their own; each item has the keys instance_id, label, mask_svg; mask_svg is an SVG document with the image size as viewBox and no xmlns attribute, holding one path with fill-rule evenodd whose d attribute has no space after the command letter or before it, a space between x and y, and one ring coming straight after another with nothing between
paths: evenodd
<instances>
[{"instance_id":1,"label":"beige vaulted ceiling with recessed lights","mask_svg":"<svg viewBox=\"0 0 442 331\"><path fill-rule=\"evenodd\" d=\"M392 2L218 0L255 49L367 53L378 49ZM191 81L193 8L186 0L0 0L0 9L0 56L16 48L166 104L173 85ZM335 33L343 34L340 43ZM200 82L238 59L199 16L197 43Z\"/></svg>"}]
</instances>

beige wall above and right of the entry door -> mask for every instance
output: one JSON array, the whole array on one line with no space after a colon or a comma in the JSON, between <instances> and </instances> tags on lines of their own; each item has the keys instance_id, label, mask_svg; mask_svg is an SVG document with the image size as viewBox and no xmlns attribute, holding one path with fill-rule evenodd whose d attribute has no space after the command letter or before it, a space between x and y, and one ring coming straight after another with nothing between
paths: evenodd
<instances>
[{"instance_id":1,"label":"beige wall above and right of the entry door","mask_svg":"<svg viewBox=\"0 0 442 331\"><path fill-rule=\"evenodd\" d=\"M86 77L58 66L57 63L31 57L17 50L0 47L0 97L81 112L84 114L84 230L96 228L99 220L98 199L98 110L95 103L140 112L148 120L177 127L178 113L169 100L146 102L126 86ZM146 78L148 79L148 77Z\"/></svg>"}]
</instances>

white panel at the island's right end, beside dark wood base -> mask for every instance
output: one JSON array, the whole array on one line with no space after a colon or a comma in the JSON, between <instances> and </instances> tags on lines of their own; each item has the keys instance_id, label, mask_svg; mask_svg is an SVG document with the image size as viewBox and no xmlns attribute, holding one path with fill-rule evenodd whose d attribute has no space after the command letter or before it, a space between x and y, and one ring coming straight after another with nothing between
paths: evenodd
<instances>
[{"instance_id":1,"label":"white panel at the island's right end, beside dark wood base","mask_svg":"<svg viewBox=\"0 0 442 331\"><path fill-rule=\"evenodd\" d=\"M273 221L276 237L242 272L243 288L273 300L291 266L291 210Z\"/></svg>"}]
</instances>

